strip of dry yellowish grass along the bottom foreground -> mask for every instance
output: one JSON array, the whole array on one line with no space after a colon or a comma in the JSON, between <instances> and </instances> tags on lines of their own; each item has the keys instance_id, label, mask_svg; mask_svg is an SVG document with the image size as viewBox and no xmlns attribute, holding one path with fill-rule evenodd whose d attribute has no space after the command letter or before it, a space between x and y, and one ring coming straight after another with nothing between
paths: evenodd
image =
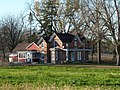
<instances>
[{"instance_id":1,"label":"strip of dry yellowish grass along the bottom foreground","mask_svg":"<svg viewBox=\"0 0 120 90\"><path fill-rule=\"evenodd\" d=\"M57 87L55 85L52 86L33 86L30 84L24 85L3 85L0 87L0 90L120 90L119 86L62 86Z\"/></svg>"}]
</instances>

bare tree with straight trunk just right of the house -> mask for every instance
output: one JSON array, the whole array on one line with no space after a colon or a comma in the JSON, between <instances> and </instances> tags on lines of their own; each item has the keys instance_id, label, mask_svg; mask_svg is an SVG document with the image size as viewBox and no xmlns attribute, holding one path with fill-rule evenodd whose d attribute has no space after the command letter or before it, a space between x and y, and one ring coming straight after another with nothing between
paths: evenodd
<instances>
[{"instance_id":1,"label":"bare tree with straight trunk just right of the house","mask_svg":"<svg viewBox=\"0 0 120 90\"><path fill-rule=\"evenodd\" d=\"M82 0L81 0L82 1ZM99 11L100 11L100 4L99 0L84 0L80 7L81 10L81 17L83 17L83 25L85 32L88 34L92 34L91 37L96 39L97 43L97 60L98 64L101 63L101 40L103 35L105 34L103 25L104 23L100 19ZM90 37L90 36L88 36Z\"/></svg>"}]
</instances>

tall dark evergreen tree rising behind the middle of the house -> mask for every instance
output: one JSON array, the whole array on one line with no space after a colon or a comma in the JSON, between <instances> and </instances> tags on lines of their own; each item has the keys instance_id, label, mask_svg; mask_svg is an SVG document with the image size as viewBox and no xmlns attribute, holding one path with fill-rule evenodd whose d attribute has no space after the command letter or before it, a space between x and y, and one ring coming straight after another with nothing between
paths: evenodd
<instances>
[{"instance_id":1,"label":"tall dark evergreen tree rising behind the middle of the house","mask_svg":"<svg viewBox=\"0 0 120 90\"><path fill-rule=\"evenodd\" d=\"M40 31L44 35L52 35L56 32L55 22L57 21L58 0L42 0L35 2L36 19L40 23Z\"/></svg>"}]
</instances>

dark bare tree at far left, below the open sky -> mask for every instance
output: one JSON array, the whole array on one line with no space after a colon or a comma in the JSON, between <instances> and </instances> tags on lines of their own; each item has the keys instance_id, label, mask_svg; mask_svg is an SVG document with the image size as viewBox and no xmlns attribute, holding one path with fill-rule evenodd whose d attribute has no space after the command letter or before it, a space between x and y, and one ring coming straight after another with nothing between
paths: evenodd
<instances>
[{"instance_id":1,"label":"dark bare tree at far left, below the open sky","mask_svg":"<svg viewBox=\"0 0 120 90\"><path fill-rule=\"evenodd\" d=\"M23 18L9 16L7 18L3 18L0 23L1 29L4 31L4 33L2 33L3 37L5 37L4 43L7 44L7 47L11 52L21 41L21 32L24 25Z\"/></svg>"}]
</instances>

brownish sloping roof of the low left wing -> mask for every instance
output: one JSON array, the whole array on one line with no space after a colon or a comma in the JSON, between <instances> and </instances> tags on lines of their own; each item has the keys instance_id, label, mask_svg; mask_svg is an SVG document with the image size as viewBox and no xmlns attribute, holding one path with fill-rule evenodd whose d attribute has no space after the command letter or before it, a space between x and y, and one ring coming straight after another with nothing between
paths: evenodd
<instances>
[{"instance_id":1,"label":"brownish sloping roof of the low left wing","mask_svg":"<svg viewBox=\"0 0 120 90\"><path fill-rule=\"evenodd\" d=\"M26 42L22 42L20 44L18 44L12 51L12 53L15 53L16 51L26 51L26 47L29 45L30 43L26 43Z\"/></svg>"}]
</instances>

